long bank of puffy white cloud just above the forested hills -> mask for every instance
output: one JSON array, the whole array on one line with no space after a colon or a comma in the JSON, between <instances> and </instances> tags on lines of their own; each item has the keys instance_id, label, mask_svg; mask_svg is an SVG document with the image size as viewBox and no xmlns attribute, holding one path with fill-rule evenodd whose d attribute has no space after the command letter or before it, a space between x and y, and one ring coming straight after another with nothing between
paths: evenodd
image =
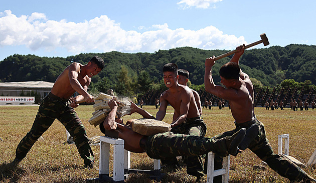
<instances>
[{"instance_id":1,"label":"long bank of puffy white cloud just above the forested hills","mask_svg":"<svg viewBox=\"0 0 316 183\"><path fill-rule=\"evenodd\" d=\"M199 30L170 29L152 25L142 33L124 30L106 15L84 22L47 20L43 13L17 17L10 10L0 13L0 46L25 45L32 50L65 48L73 54L96 51L154 52L192 46L202 49L233 49L246 43L243 36L227 35L214 26Z\"/></svg>"}]
</instances>

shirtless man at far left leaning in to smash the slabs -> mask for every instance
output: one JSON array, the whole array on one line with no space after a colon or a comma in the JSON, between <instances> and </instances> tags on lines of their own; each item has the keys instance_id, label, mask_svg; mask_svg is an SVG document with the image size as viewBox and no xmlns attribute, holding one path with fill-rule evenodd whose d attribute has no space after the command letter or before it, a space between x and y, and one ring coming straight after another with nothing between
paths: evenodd
<instances>
[{"instance_id":1,"label":"shirtless man at far left leaning in to smash the slabs","mask_svg":"<svg viewBox=\"0 0 316 183\"><path fill-rule=\"evenodd\" d=\"M104 68L104 61L99 56L94 56L87 64L73 62L57 77L51 92L45 96L39 106L39 111L31 130L22 138L17 150L14 162L19 163L29 152L37 139L52 125L57 118L74 137L80 156L84 160L85 167L93 167L94 155L85 127L79 119L74 107L78 100L84 99L91 103L93 96L87 92L91 77L98 74ZM69 98L78 92L72 102Z\"/></svg>"}]
</instances>

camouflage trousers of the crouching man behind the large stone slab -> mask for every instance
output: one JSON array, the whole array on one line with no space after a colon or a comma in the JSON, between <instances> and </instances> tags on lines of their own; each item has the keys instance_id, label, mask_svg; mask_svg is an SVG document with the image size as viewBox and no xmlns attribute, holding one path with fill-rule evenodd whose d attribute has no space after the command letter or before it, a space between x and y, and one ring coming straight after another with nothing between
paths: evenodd
<instances>
[{"instance_id":1,"label":"camouflage trousers of the crouching man behind the large stone slab","mask_svg":"<svg viewBox=\"0 0 316 183\"><path fill-rule=\"evenodd\" d=\"M206 124L200 117L188 118L185 122L174 127L172 130L174 133L188 134L195 136L204 136L206 133ZM185 156L185 162L187 163L187 173L193 176L203 176L203 158L201 155ZM162 159L163 164L176 164L176 156Z\"/></svg>"}]
</instances>

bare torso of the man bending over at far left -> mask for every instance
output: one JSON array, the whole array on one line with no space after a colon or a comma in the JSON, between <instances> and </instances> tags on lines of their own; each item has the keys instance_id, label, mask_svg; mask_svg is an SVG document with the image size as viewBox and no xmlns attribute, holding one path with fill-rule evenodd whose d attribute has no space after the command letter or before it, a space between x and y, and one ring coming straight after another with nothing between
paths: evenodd
<instances>
[{"instance_id":1,"label":"bare torso of the man bending over at far left","mask_svg":"<svg viewBox=\"0 0 316 183\"><path fill-rule=\"evenodd\" d=\"M80 68L82 67L82 64L80 63L72 63L72 64L79 64ZM71 65L72 65L71 64ZM70 98L74 92L75 89L72 88L70 85L69 80L69 67L71 65L68 65L65 70L57 77L53 88L51 89L51 92L55 94L56 96L59 96L61 98ZM77 65L78 66L78 65ZM80 82L82 86L84 86L87 82L89 82L89 77L87 75L82 76L81 73L78 73L77 80Z\"/></svg>"}]
</instances>

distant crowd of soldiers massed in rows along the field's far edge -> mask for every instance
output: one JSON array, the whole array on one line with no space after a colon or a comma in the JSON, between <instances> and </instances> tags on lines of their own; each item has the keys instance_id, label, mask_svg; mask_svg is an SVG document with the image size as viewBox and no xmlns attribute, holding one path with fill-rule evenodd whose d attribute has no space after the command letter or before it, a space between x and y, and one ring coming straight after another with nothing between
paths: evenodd
<instances>
[{"instance_id":1,"label":"distant crowd of soldiers massed in rows along the field's far edge","mask_svg":"<svg viewBox=\"0 0 316 183\"><path fill-rule=\"evenodd\" d=\"M203 108L212 109L212 106L218 106L222 109L224 106L229 107L227 100L219 98L205 90L197 90L201 97L201 103ZM278 109L283 110L285 107L290 107L292 110L308 110L308 108L316 108L314 89L311 88L308 92L305 92L305 88L300 90L295 88L284 89L279 91L273 87L271 93L269 88L260 88L255 92L255 106L265 107L267 110ZM155 91L153 89L148 90L144 95L137 98L137 101L143 100L145 105L157 105L156 101L159 101L159 95L161 91Z\"/></svg>"}]
</instances>

